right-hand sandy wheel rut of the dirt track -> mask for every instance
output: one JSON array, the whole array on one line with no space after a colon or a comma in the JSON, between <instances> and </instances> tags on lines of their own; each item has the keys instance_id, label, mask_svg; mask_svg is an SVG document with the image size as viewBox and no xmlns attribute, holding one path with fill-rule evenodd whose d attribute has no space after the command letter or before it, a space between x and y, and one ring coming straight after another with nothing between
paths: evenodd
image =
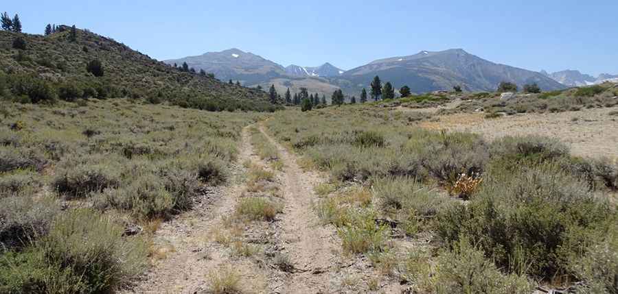
<instances>
[{"instance_id":1,"label":"right-hand sandy wheel rut of the dirt track","mask_svg":"<svg viewBox=\"0 0 618 294\"><path fill-rule=\"evenodd\" d=\"M338 271L340 247L334 230L319 222L312 210L317 200L313 186L320 177L316 173L304 172L296 163L296 156L277 143L260 125L260 132L277 148L285 164L279 173L282 183L282 197L286 202L282 215L282 241L284 251L300 271L286 280L279 293L333 293L339 284Z\"/></svg>"}]
</instances>

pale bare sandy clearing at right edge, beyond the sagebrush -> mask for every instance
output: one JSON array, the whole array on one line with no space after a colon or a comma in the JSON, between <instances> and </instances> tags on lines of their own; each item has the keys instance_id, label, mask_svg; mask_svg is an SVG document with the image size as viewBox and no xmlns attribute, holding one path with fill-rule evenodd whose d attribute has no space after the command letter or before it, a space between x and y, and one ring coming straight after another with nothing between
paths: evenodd
<instances>
[{"instance_id":1,"label":"pale bare sandy clearing at right edge, beyond the sagebrush","mask_svg":"<svg viewBox=\"0 0 618 294\"><path fill-rule=\"evenodd\" d=\"M516 114L485 119L485 114L452 114L439 121L424 121L431 130L464 131L494 139L503 136L538 134L558 138L577 156L618 158L618 108L595 108L577 112Z\"/></svg>"}]
</instances>

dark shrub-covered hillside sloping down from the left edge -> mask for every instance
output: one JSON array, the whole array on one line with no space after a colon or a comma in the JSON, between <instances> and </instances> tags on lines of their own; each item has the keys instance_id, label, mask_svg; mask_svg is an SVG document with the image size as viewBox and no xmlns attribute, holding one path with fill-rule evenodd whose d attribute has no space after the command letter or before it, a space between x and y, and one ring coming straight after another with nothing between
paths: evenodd
<instances>
[{"instance_id":1,"label":"dark shrub-covered hillside sloping down from the left edge","mask_svg":"<svg viewBox=\"0 0 618 294\"><path fill-rule=\"evenodd\" d=\"M139 97L208 110L273 108L262 91L174 69L111 38L88 31L77 29L75 41L71 41L70 35L71 29L66 26L60 26L50 36L0 32L0 69L9 76L43 78L55 85L59 94L64 93L62 85L70 84L82 88L78 93L86 90L84 97ZM25 40L25 50L13 48L12 43L18 37ZM102 77L87 72L91 60L100 60ZM95 95L88 95L92 94L91 89L97 90Z\"/></svg>"}]
</instances>

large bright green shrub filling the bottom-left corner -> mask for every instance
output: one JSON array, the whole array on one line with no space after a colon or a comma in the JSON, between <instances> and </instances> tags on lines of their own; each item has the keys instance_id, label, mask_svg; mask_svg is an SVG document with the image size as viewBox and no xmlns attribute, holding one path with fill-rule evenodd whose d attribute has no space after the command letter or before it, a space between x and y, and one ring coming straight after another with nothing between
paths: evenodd
<instances>
[{"instance_id":1,"label":"large bright green shrub filling the bottom-left corner","mask_svg":"<svg viewBox=\"0 0 618 294\"><path fill-rule=\"evenodd\" d=\"M3 293L110 293L148 265L147 247L91 210L60 215L49 234L23 253L0 258Z\"/></svg>"}]
</instances>

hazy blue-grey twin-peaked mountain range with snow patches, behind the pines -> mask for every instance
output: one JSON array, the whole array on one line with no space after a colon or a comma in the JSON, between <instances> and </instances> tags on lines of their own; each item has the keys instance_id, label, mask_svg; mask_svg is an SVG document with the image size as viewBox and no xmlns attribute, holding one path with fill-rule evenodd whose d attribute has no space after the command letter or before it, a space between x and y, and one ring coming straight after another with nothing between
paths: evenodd
<instances>
[{"instance_id":1,"label":"hazy blue-grey twin-peaked mountain range with snow patches, behind the pines","mask_svg":"<svg viewBox=\"0 0 618 294\"><path fill-rule=\"evenodd\" d=\"M453 86L461 86L468 91L496 90L503 81L518 85L536 83L543 90L566 88L547 75L490 62L463 49L421 51L411 56L383 58L349 71L328 62L315 67L295 64L284 67L240 49L165 62L187 62L196 70L214 73L224 81L240 81L244 86L260 85L266 88L274 84L279 93L284 93L286 88L298 92L299 88L305 87L310 93L330 95L341 88L347 95L358 95L363 88L369 88L376 75L383 82L391 82L395 88L409 86L414 93L450 90Z\"/></svg>"}]
</instances>

